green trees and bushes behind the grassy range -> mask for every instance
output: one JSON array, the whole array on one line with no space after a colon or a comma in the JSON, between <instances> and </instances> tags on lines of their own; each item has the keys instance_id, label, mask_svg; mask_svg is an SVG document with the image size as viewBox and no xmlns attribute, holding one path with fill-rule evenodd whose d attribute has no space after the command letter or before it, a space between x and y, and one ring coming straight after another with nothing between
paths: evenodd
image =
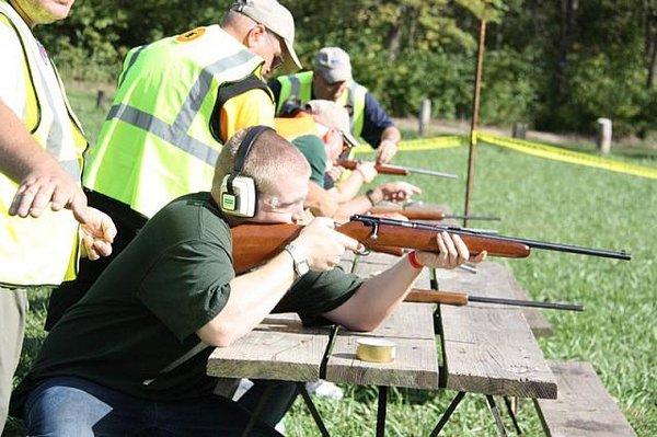
<instances>
[{"instance_id":1,"label":"green trees and bushes behind the grassy range","mask_svg":"<svg viewBox=\"0 0 657 437\"><path fill-rule=\"evenodd\" d=\"M423 97L435 116L468 118L477 16L491 20L482 119L618 135L657 129L655 0L283 0L304 65L325 45L351 55L356 78L396 116ZM220 21L229 0L79 1L39 34L67 76L114 81L132 46Z\"/></svg>"}]
</instances>

